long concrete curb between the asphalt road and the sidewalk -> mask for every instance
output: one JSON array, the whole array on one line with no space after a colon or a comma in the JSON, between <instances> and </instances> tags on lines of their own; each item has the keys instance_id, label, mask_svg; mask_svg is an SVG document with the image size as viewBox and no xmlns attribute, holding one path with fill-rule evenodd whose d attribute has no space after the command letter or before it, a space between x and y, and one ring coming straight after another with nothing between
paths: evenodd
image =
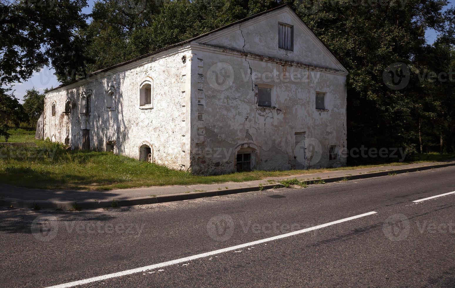
<instances>
[{"instance_id":1,"label":"long concrete curb between the asphalt road and the sidewalk","mask_svg":"<svg viewBox=\"0 0 455 288\"><path fill-rule=\"evenodd\" d=\"M407 172L417 172L435 168L443 168L455 166L455 162L445 163L445 164L435 164L435 165L428 165L416 168L404 168L404 169L396 169L396 170L387 170L387 171L380 171L380 172L372 172L372 173L365 173L365 174L358 174L352 175L349 177L329 177L329 178L321 178L316 180L307 180L308 184L317 184L317 182L324 181L325 183L331 182L338 182L344 179L348 180L356 180L356 179L365 179L365 178L373 178L373 177L380 177L380 176L387 176L389 173L407 173ZM295 177L289 177L288 179L293 179ZM304 177L299 177L298 179L304 180ZM284 187L280 183L276 184L265 184L262 186L262 190L269 190L273 188L281 188ZM179 193L179 194L168 194L168 195L159 195L156 197L138 197L138 198L130 198L130 199L119 199L119 200L101 200L101 201L49 201L49 200L22 200L22 199L15 199L15 198L0 198L0 206L13 206L19 208L44 208L44 209L96 209L96 208L105 208L105 207L112 207L113 203L116 207L122 206L135 206L135 205L146 205L146 204L155 204L155 203L164 203L164 202L172 202L172 201L182 201L182 200L190 200L190 199L197 199L203 197L213 197L213 196L223 196L229 194L236 194L236 193L243 193L243 192L254 192L254 191L261 191L259 186L253 187L241 187L241 188L232 188L232 189L224 189L224 190L213 190L213 191L204 191L204 192L194 192L194 193Z\"/></svg>"}]
</instances>

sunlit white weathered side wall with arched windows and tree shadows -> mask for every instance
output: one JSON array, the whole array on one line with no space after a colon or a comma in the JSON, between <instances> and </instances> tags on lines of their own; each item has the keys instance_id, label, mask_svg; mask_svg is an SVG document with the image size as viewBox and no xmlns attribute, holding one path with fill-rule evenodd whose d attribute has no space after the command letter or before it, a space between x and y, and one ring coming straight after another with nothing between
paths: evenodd
<instances>
[{"instance_id":1,"label":"sunlit white weathered side wall with arched windows and tree shadows","mask_svg":"<svg viewBox=\"0 0 455 288\"><path fill-rule=\"evenodd\" d=\"M183 63L186 51L167 51L154 58L110 71L82 84L72 84L45 97L45 138L65 142L73 149L82 148L82 129L90 129L90 149L105 151L107 141L115 141L115 153L139 157L139 147L152 147L153 162L174 169L189 167L190 62ZM134 67L136 66L136 67ZM139 106L140 85L152 82L152 105ZM115 108L106 108L106 94L114 91ZM80 113L80 99L91 94L90 116ZM63 113L65 101L71 99L71 113ZM56 102L56 116L51 106Z\"/></svg>"}]
</instances>

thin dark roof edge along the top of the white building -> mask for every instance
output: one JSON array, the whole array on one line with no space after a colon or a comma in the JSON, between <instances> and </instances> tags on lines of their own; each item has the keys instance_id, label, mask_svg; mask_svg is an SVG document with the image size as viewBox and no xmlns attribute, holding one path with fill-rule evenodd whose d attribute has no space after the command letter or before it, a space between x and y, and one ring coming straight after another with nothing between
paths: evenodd
<instances>
[{"instance_id":1,"label":"thin dark roof edge along the top of the white building","mask_svg":"<svg viewBox=\"0 0 455 288\"><path fill-rule=\"evenodd\" d=\"M248 20L251 20L251 19L256 18L256 17L258 17L258 16L261 16L261 15L264 15L264 14L267 14L267 13L270 13L270 12L273 12L273 11L275 11L275 10L282 9L282 8L284 8L284 7L289 7L291 10L293 10L293 9L292 9L289 5L287 5L287 4L279 5L279 6L275 7L275 8L273 8L273 9L266 10L266 11L263 11L263 12L261 12L261 13L254 14L254 15L252 15L252 16L243 18L243 19L241 19L241 20L235 21L235 22L233 22L233 23L231 23L231 24L228 24L228 25L224 25L224 26L222 26L222 27L220 27L220 28L217 28L217 29L215 29L215 30L212 30L212 31L210 31L210 32L207 32L207 33L198 35L198 36L196 36L196 37L193 37L193 38L190 38L190 39L187 39L187 40L183 40L183 41L181 41L181 42L178 42L178 43L175 43L175 44L172 44L172 45L165 46L165 47L163 47L163 48L161 48L161 49L158 49L158 50L156 50L156 51L153 51L153 52L150 52L150 53L141 55L141 56L136 57L136 58L134 58L134 59L131 59L131 60L128 60L128 61L125 61L125 62L121 62L121 63L119 63L119 64L116 64L116 65L113 65L113 66L110 66L110 67L103 68L103 69L100 69L100 70L98 70L98 71L92 72L92 73L90 73L90 74L88 74L88 75L86 75L86 76L84 76L84 77L81 77L81 78L76 79L75 81L72 81L72 82L69 82L69 83L66 83L66 84L61 84L61 85L59 85L59 86L57 86L57 87L55 87L55 88L53 88L53 89L51 89L51 90L45 92L45 94L47 94L47 93L50 92L50 91L54 91L54 90L56 90L56 89L59 89L59 88L61 88L61 87L64 87L64 86L67 86L67 85L76 83L76 82L78 82L78 81L82 81L82 80L84 80L84 79L86 79L86 78L88 78L88 77L91 77L91 76L94 76L94 75L97 75L97 74L100 74L100 73L109 71L109 70L111 70L111 69L114 69L114 68L117 68L117 67L126 65L126 64L128 64L128 63L131 63L131 62L140 60L140 59L142 59L142 58L146 58L146 57L148 57L148 56L152 56L152 55L157 54L157 53L159 53L159 52L166 51L166 50L168 50L168 49L171 49L171 48L174 48L174 47L177 47L177 46L180 46L180 45L184 45L184 44L190 43L190 42L192 42L192 41L194 41L194 40L200 39L200 38L205 37L205 36L207 36L207 35L210 35L210 34L212 34L212 33L218 32L218 31L220 31L220 30L224 30L224 29L229 28L229 27L234 26L234 25L241 24L241 23L243 23L243 22L245 22L245 21L248 21ZM294 12L294 13L295 13L295 12ZM300 17L298 17L298 18L300 19ZM301 19L300 19L300 20L301 20ZM301 20L301 21L302 21L302 23L304 23L303 20ZM313 34L314 34L314 33L313 33ZM317 36L316 36L316 37L317 37ZM319 39L319 37L317 37L317 38ZM339 61L339 59L334 55L334 53L329 49L329 47L327 47L327 45L324 43L324 41L322 41L322 40L320 40L320 39L319 39L319 41L321 41L321 43L324 44L324 46L327 48L327 50L329 50L330 53L332 53L332 55L336 58L336 60ZM342 63L341 61L339 61L339 62ZM341 64L341 65L343 65L343 64Z\"/></svg>"}]
</instances>

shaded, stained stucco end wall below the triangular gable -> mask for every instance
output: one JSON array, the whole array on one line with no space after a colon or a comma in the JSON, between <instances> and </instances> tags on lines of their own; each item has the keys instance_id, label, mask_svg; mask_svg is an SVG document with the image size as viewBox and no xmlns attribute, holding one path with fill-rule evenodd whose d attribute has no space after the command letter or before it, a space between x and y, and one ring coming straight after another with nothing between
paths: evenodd
<instances>
[{"instance_id":1,"label":"shaded, stained stucco end wall below the triangular gable","mask_svg":"<svg viewBox=\"0 0 455 288\"><path fill-rule=\"evenodd\" d=\"M193 171L233 172L239 149L253 152L254 169L345 165L345 75L211 48L193 50L203 63L197 85L204 104L192 116ZM272 108L258 106L256 85L272 88ZM316 110L316 91L326 93L324 111ZM303 144L296 148L295 133L304 134L304 159L297 159ZM329 161L329 145L339 151L335 160Z\"/></svg>"}]
</instances>

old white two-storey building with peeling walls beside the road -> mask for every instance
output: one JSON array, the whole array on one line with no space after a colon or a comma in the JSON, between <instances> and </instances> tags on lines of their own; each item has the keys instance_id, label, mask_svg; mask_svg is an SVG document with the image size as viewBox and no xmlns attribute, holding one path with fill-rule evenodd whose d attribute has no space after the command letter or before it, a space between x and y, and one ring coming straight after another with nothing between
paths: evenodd
<instances>
[{"instance_id":1,"label":"old white two-storey building with peeling walls beside the road","mask_svg":"<svg viewBox=\"0 0 455 288\"><path fill-rule=\"evenodd\" d=\"M203 174L342 166L347 74L280 6L47 92L44 137Z\"/></svg>"}]
</instances>

